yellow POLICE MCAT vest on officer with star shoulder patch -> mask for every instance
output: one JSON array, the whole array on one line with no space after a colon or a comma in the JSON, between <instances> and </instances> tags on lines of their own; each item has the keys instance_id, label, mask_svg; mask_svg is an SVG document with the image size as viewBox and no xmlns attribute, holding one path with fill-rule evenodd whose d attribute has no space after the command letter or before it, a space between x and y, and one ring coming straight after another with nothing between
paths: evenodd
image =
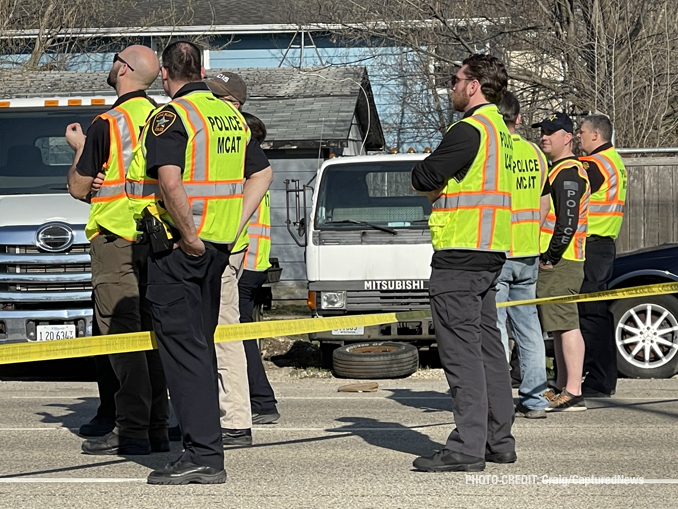
<instances>
[{"instance_id":1,"label":"yellow POLICE MCAT vest on officer with star shoulder patch","mask_svg":"<svg viewBox=\"0 0 678 509\"><path fill-rule=\"evenodd\" d=\"M240 112L211 92L190 92L169 103L188 134L183 186L193 212L198 237L210 242L235 241L242 215L245 148L250 131ZM168 122L173 113L164 113ZM135 217L161 199L158 181L146 173L146 138L154 136L155 116L144 127L138 150L127 172L126 192ZM173 224L160 207L161 218Z\"/></svg>"}]
</instances>

